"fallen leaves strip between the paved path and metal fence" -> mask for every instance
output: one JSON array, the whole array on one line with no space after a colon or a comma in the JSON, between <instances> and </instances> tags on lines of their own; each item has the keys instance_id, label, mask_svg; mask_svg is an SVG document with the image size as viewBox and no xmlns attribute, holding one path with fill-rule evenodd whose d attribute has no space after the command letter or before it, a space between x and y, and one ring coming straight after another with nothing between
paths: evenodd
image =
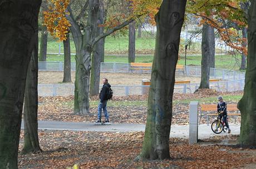
<instances>
[{"instance_id":1,"label":"fallen leaves strip between the paved path and metal fence","mask_svg":"<svg viewBox=\"0 0 256 169\"><path fill-rule=\"evenodd\" d=\"M239 95L241 92L233 93L219 93L212 89L200 89L195 94L174 94L173 100L176 101L173 104L173 118L172 124L188 125L189 123L189 104L179 103L179 100L207 98L219 95ZM80 121L80 122L94 122L97 119L97 107L90 107L90 114L76 115L73 113L73 96L61 97L40 97L38 99L38 120L54 120L54 121ZM91 101L98 101L98 96L90 98ZM131 96L114 96L111 100L113 105L115 102L120 101L132 102L132 101L146 101L147 95L131 95ZM68 104L67 104L68 103ZM200 108L200 107L199 107ZM145 124L147 117L147 107L144 105L130 105L130 104L116 104L115 106L107 106L110 114L110 121L113 123L132 123L132 124ZM210 116L209 120L213 121L215 117ZM102 119L104 114L102 112ZM229 122L239 122L240 117L235 119L235 116L229 117ZM201 122L206 123L206 116L203 116Z\"/></svg>"}]
</instances>

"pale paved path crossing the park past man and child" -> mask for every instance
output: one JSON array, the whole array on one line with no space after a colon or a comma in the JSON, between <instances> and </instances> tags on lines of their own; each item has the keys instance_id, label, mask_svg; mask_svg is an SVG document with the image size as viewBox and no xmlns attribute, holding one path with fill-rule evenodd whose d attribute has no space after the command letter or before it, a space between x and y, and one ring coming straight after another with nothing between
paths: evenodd
<instances>
[{"instance_id":1,"label":"pale paved path crossing the park past man and child","mask_svg":"<svg viewBox=\"0 0 256 169\"><path fill-rule=\"evenodd\" d=\"M22 122L23 129L23 122ZM144 124L111 124L95 125L85 122L63 122L63 121L38 121L38 129L44 130L72 130L72 131L111 131L111 132L132 132L145 131ZM240 125L230 124L232 134L240 134ZM198 126L198 139L207 139L216 134L206 124ZM219 135L227 135L222 132ZM189 125L171 125L170 137L189 137Z\"/></svg>"}]
</instances>

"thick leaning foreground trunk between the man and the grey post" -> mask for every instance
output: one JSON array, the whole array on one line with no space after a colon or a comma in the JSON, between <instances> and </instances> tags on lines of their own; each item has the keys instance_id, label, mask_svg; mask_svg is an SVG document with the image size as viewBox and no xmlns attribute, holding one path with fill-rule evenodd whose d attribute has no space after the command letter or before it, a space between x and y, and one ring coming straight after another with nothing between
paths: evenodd
<instances>
[{"instance_id":1,"label":"thick leaning foreground trunk between the man and the grey post","mask_svg":"<svg viewBox=\"0 0 256 169\"><path fill-rule=\"evenodd\" d=\"M137 160L170 158L169 135L172 117L175 68L186 0L164 0L156 14L156 47L147 121L141 154Z\"/></svg>"}]
</instances>

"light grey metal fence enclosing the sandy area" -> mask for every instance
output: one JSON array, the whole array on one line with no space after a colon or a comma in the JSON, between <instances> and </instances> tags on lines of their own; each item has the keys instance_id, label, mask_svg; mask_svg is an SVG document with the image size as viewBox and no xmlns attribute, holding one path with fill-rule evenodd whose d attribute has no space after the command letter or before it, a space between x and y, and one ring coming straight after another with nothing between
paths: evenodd
<instances>
[{"instance_id":1,"label":"light grey metal fence enclosing the sandy area","mask_svg":"<svg viewBox=\"0 0 256 169\"><path fill-rule=\"evenodd\" d=\"M127 63L101 63L101 72L111 73L151 73L151 70L131 70ZM63 71L62 62L40 62L39 70ZM71 70L75 70L75 63L71 64ZM201 68L198 66L184 66L183 71L176 71L176 74L187 76L201 76ZM218 91L237 91L244 89L245 73L225 70L210 69L210 79L221 79L220 81L210 82L210 88ZM141 79L142 80L142 79ZM193 93L199 87L199 83L177 84L174 86L174 93ZM149 86L115 86L112 85L116 96L141 95L147 94ZM40 96L68 96L73 95L75 85L66 84L38 84L38 95Z\"/></svg>"}]
</instances>

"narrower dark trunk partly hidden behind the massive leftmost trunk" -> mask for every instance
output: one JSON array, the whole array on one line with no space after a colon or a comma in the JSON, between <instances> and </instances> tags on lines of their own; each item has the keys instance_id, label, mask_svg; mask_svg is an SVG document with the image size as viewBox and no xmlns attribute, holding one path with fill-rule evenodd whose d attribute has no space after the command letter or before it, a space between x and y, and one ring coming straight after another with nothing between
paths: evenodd
<instances>
[{"instance_id":1,"label":"narrower dark trunk partly hidden behind the massive leftmost trunk","mask_svg":"<svg viewBox=\"0 0 256 169\"><path fill-rule=\"evenodd\" d=\"M32 52L26 78L24 98L24 144L22 154L42 152L38 141L38 38Z\"/></svg>"}]
</instances>

